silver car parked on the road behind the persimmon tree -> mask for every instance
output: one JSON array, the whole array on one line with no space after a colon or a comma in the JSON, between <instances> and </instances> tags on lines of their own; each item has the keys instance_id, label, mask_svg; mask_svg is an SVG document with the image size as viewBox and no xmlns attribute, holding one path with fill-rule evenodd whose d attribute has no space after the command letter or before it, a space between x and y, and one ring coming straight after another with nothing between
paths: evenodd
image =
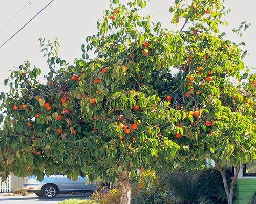
<instances>
[{"instance_id":1,"label":"silver car parked on the road behind the persimmon tree","mask_svg":"<svg viewBox=\"0 0 256 204\"><path fill-rule=\"evenodd\" d=\"M97 190L97 186L88 184L87 177L78 177L74 181L57 173L57 175L45 176L41 182L36 180L36 176L31 175L25 180L23 189L35 193L38 197L54 198L58 193L93 192Z\"/></svg>"}]
</instances>

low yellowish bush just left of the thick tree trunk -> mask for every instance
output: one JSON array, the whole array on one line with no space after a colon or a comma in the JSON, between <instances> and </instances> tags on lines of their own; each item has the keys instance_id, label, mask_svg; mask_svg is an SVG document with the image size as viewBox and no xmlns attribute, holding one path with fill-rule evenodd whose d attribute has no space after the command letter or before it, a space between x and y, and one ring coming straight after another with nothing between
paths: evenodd
<instances>
[{"instance_id":1,"label":"low yellowish bush just left of the thick tree trunk","mask_svg":"<svg viewBox=\"0 0 256 204\"><path fill-rule=\"evenodd\" d=\"M108 193L106 193L105 191L94 192L91 198L99 204L120 203L120 194L118 189L111 189Z\"/></svg>"}]
</instances>

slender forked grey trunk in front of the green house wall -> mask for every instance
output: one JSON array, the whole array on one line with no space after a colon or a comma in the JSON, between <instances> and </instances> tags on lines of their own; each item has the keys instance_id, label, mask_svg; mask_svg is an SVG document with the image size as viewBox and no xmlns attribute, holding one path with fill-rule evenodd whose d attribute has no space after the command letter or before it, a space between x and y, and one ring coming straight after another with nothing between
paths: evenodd
<instances>
[{"instance_id":1,"label":"slender forked grey trunk in front of the green house wall","mask_svg":"<svg viewBox=\"0 0 256 204\"><path fill-rule=\"evenodd\" d=\"M240 164L238 164L237 166L234 167L236 172L234 173L234 177L232 179L232 182L230 183L230 189L229 189L228 184L227 184L226 165L224 165L224 167L222 169L221 162L219 160L214 160L214 161L215 161L215 164L216 164L216 167L217 167L218 171L220 172L220 174L222 176L224 189L225 189L225 192L226 192L226 195L227 195L228 204L233 204L234 186L236 185L236 182L237 182L238 173L239 173L239 170L240 170Z\"/></svg>"}]
</instances>

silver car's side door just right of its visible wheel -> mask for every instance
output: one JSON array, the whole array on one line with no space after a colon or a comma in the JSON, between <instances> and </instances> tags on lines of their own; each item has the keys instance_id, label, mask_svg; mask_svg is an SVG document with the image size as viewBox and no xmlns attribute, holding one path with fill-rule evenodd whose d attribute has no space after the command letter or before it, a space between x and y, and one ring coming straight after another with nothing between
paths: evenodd
<instances>
[{"instance_id":1,"label":"silver car's side door just right of its visible wheel","mask_svg":"<svg viewBox=\"0 0 256 204\"><path fill-rule=\"evenodd\" d=\"M59 191L73 191L75 189L75 181L68 179L66 175L57 173L52 175L53 182L59 187Z\"/></svg>"}]
</instances>

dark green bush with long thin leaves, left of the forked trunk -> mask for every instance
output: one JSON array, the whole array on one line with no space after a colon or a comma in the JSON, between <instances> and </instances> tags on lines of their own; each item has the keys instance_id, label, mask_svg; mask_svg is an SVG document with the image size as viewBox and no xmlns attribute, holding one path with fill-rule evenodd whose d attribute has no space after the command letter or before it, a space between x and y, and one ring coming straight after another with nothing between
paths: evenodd
<instances>
[{"instance_id":1,"label":"dark green bush with long thin leaves, left of the forked trunk","mask_svg":"<svg viewBox=\"0 0 256 204\"><path fill-rule=\"evenodd\" d=\"M167 190L178 204L227 203L222 177L215 169L188 172L178 169L164 177Z\"/></svg>"}]
</instances>

